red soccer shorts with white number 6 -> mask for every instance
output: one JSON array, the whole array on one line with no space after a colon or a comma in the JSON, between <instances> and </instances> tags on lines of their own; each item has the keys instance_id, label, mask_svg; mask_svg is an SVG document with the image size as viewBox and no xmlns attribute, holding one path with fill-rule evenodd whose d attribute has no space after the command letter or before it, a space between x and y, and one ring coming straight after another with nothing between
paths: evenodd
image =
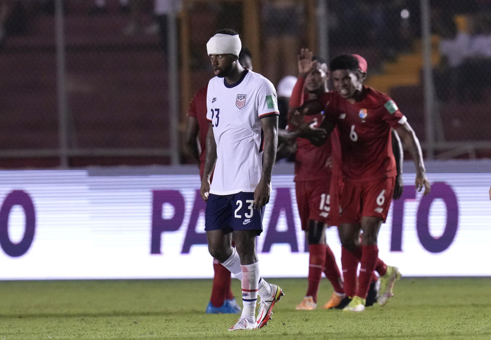
<instances>
[{"instance_id":1,"label":"red soccer shorts with white number 6","mask_svg":"<svg viewBox=\"0 0 491 340\"><path fill-rule=\"evenodd\" d=\"M395 177L367 182L345 182L341 192L341 223L360 223L362 216L382 218L389 211Z\"/></svg>"}]
</instances>

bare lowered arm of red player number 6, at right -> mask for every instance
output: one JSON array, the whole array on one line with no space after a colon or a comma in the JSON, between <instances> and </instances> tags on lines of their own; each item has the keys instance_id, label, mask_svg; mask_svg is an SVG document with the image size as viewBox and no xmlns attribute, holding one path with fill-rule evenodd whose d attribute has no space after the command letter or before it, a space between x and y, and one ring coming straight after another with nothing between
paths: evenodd
<instances>
[{"instance_id":1,"label":"bare lowered arm of red player number 6, at right","mask_svg":"<svg viewBox=\"0 0 491 340\"><path fill-rule=\"evenodd\" d=\"M425 163L423 162L421 145L419 144L418 137L416 137L414 130L408 122L401 125L396 131L413 157L414 165L416 166L416 189L421 191L424 187L425 191L423 192L423 195L427 195L431 191L431 186L426 177Z\"/></svg>"}]
</instances>

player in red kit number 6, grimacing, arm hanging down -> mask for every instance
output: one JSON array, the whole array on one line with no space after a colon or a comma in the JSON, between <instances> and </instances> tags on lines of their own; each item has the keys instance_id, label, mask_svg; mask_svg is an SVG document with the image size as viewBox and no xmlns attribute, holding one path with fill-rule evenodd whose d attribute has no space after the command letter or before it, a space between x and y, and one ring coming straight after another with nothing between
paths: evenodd
<instances>
[{"instance_id":1,"label":"player in red kit number 6, grimacing, arm hanging down","mask_svg":"<svg viewBox=\"0 0 491 340\"><path fill-rule=\"evenodd\" d=\"M359 58L342 55L334 58L329 66L338 94L322 103L325 118L321 128L328 134L334 127L339 129L344 178L339 236L343 254L349 252L361 262L356 293L344 310L363 311L378 259L378 230L387 217L397 175L391 150L391 128L397 131L413 157L416 189L424 189L423 195L427 195L430 183L419 141L406 116L389 96L363 85ZM314 142L319 144L319 141ZM363 231L361 242L360 231ZM343 261L342 264L344 272ZM400 274L392 266L387 267L386 273L379 273L381 296L378 303L385 305L393 295L392 287Z\"/></svg>"}]
</instances>

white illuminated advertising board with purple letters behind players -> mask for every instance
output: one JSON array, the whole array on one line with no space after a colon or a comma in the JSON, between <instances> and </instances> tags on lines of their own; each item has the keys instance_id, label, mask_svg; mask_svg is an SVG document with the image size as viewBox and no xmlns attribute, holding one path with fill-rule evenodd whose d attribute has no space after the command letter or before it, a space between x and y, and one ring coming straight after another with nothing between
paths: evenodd
<instances>
[{"instance_id":1,"label":"white illuminated advertising board with purple letters behind players","mask_svg":"<svg viewBox=\"0 0 491 340\"><path fill-rule=\"evenodd\" d=\"M482 262L491 240L491 174L482 170L491 163L432 164L429 196L415 191L413 173L404 175L403 197L392 203L380 231L379 256L406 276L491 275ZM306 277L305 237L293 176L286 175L293 171L290 164L283 175L281 169L275 168L258 238L261 273ZM452 173L456 169L460 173ZM195 172L0 172L0 279L211 278ZM339 262L335 227L327 230L327 241Z\"/></svg>"}]
</instances>

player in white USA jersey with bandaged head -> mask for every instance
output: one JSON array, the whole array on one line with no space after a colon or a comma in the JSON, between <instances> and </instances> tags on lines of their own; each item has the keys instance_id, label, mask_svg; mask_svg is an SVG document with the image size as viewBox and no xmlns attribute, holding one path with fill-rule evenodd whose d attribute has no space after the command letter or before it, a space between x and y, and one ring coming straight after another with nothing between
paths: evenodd
<instances>
[{"instance_id":1,"label":"player in white USA jersey with bandaged head","mask_svg":"<svg viewBox=\"0 0 491 340\"><path fill-rule=\"evenodd\" d=\"M256 254L278 145L276 90L269 80L240 65L237 32L218 31L206 47L216 76L208 83L210 129L200 189L207 201L208 249L242 283L242 314L229 330L261 328L284 295L281 287L260 277Z\"/></svg>"}]
</instances>

